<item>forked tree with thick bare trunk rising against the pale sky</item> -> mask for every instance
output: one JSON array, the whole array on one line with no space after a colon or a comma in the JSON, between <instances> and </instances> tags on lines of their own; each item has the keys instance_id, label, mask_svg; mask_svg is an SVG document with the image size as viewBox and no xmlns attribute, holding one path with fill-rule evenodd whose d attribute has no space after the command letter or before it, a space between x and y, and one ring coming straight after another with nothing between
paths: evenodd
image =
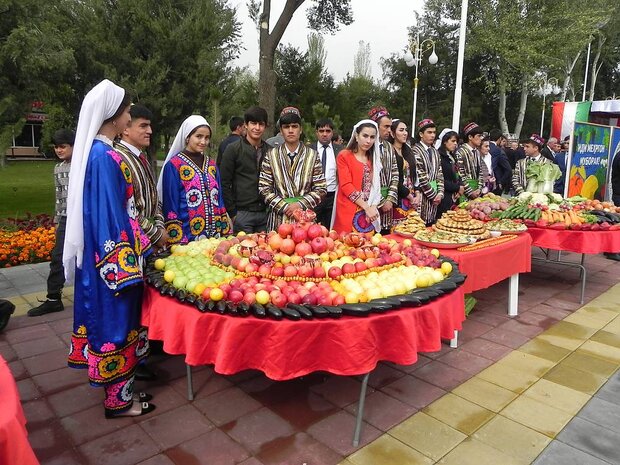
<instances>
[{"instance_id":1,"label":"forked tree with thick bare trunk rising against the pale sky","mask_svg":"<svg viewBox=\"0 0 620 465\"><path fill-rule=\"evenodd\" d=\"M276 76L274 58L282 36L293 15L305 0L286 0L284 9L270 29L271 0L249 0L250 17L259 28L259 102L272 117L275 114ZM259 14L260 12L260 14ZM349 25L353 22L350 0L313 0L307 11L308 25L318 32L336 32L340 24Z\"/></svg>"}]
</instances>

